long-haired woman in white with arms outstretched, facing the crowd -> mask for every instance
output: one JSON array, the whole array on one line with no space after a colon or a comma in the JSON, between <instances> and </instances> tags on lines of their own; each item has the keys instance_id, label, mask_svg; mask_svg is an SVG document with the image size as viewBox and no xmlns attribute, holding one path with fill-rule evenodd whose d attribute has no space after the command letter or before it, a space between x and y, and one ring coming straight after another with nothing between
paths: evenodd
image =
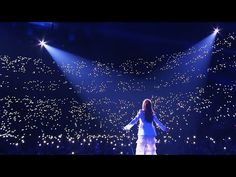
<instances>
[{"instance_id":1,"label":"long-haired woman in white with arms outstretched, facing the crowd","mask_svg":"<svg viewBox=\"0 0 236 177\"><path fill-rule=\"evenodd\" d=\"M153 122L155 122L163 131L167 128L158 120L152 109L151 100L145 99L142 109L139 110L135 118L124 127L124 130L130 130L134 124L139 121L138 140L136 146L136 155L156 155L156 139L157 136Z\"/></svg>"}]
</instances>

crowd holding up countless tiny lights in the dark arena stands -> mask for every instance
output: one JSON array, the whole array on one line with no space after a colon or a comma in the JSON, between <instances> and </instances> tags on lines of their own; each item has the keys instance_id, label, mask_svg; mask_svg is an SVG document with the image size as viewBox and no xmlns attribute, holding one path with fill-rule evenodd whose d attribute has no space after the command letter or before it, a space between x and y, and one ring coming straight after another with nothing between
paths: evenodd
<instances>
[{"instance_id":1,"label":"crowd holding up countless tiny lights in the dark arena stands","mask_svg":"<svg viewBox=\"0 0 236 177\"><path fill-rule=\"evenodd\" d=\"M0 153L133 154L137 129L122 127L146 97L170 129L158 154L235 153L234 45L229 33L211 54L204 45L120 64L2 54ZM196 67L209 55L209 66Z\"/></svg>"}]
</instances>

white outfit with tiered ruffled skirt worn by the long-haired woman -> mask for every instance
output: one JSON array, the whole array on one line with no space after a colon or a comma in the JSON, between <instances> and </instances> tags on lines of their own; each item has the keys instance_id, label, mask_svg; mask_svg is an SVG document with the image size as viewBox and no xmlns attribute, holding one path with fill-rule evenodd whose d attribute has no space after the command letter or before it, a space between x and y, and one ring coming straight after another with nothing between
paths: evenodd
<instances>
[{"instance_id":1,"label":"white outfit with tiered ruffled skirt worn by the long-haired woman","mask_svg":"<svg viewBox=\"0 0 236 177\"><path fill-rule=\"evenodd\" d=\"M125 130L130 130L139 121L138 140L136 146L136 155L156 155L156 138L157 136L153 122L155 122L163 131L166 127L158 120L157 116L153 115L153 121L147 122L144 117L144 111L139 110L135 118L124 127Z\"/></svg>"}]
</instances>

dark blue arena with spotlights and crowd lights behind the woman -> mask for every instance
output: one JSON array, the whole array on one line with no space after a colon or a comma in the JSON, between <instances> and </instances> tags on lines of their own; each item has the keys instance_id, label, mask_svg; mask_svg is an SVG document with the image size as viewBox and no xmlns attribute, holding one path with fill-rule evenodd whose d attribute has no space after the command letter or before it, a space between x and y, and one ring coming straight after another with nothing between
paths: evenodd
<instances>
[{"instance_id":1,"label":"dark blue arena with spotlights and crowd lights behind the woman","mask_svg":"<svg viewBox=\"0 0 236 177\"><path fill-rule=\"evenodd\" d=\"M1 22L0 154L236 154L236 23Z\"/></svg>"}]
</instances>

